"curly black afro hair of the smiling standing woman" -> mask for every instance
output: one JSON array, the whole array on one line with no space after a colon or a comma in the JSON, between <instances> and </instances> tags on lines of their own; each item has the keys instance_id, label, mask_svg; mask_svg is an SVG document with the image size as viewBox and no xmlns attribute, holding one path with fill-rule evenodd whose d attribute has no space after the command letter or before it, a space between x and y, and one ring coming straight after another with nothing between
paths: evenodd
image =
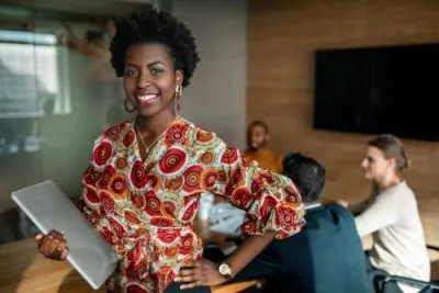
<instances>
[{"instance_id":1,"label":"curly black afro hair of the smiling standing woman","mask_svg":"<svg viewBox=\"0 0 439 293\"><path fill-rule=\"evenodd\" d=\"M116 34L110 44L111 65L116 76L125 71L125 53L133 44L158 43L168 47L176 70L183 71L182 86L187 87L200 61L195 40L185 25L167 12L147 5L134 11L116 23Z\"/></svg>"}]
</instances>

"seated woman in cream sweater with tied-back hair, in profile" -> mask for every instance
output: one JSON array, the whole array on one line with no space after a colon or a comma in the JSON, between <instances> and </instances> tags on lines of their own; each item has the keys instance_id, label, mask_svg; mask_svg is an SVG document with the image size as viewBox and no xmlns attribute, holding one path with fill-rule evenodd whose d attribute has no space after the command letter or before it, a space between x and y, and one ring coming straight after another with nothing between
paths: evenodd
<instances>
[{"instance_id":1,"label":"seated woman in cream sweater with tied-back hair, in profile","mask_svg":"<svg viewBox=\"0 0 439 293\"><path fill-rule=\"evenodd\" d=\"M402 142L393 135L373 137L361 167L364 178L372 182L371 195L357 204L340 204L356 215L360 237L372 234L373 246L367 260L375 292L381 292L380 280L387 274L429 281L430 261L416 196L402 176L408 167ZM402 284L394 286L393 292L418 291Z\"/></svg>"}]
</instances>

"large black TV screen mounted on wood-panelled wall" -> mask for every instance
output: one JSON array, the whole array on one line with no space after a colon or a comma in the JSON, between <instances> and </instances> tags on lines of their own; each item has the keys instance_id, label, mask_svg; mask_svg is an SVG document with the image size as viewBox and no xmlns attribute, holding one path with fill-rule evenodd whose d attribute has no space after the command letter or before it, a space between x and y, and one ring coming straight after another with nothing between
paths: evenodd
<instances>
[{"instance_id":1,"label":"large black TV screen mounted on wood-panelled wall","mask_svg":"<svg viewBox=\"0 0 439 293\"><path fill-rule=\"evenodd\" d=\"M315 54L314 127L439 140L439 44Z\"/></svg>"}]
</instances>

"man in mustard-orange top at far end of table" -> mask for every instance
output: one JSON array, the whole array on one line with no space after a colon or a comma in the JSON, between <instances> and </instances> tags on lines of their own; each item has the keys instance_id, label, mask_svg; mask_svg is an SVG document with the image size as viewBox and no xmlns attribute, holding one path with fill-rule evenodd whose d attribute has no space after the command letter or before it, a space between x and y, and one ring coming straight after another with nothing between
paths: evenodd
<instances>
[{"instance_id":1,"label":"man in mustard-orange top at far end of table","mask_svg":"<svg viewBox=\"0 0 439 293\"><path fill-rule=\"evenodd\" d=\"M247 128L247 149L244 155L256 160L261 168L282 173L282 156L267 148L270 138L268 125L254 121Z\"/></svg>"}]
</instances>

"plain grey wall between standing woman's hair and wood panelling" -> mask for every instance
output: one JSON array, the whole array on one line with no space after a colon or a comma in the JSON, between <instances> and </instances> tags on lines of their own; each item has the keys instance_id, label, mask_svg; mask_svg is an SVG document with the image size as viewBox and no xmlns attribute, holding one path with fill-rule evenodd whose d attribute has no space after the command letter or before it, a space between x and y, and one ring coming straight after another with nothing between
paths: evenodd
<instances>
[{"instance_id":1,"label":"plain grey wall between standing woman's hair and wood panelling","mask_svg":"<svg viewBox=\"0 0 439 293\"><path fill-rule=\"evenodd\" d=\"M247 0L175 0L169 10L192 31L201 57L181 115L244 148Z\"/></svg>"}]
</instances>

